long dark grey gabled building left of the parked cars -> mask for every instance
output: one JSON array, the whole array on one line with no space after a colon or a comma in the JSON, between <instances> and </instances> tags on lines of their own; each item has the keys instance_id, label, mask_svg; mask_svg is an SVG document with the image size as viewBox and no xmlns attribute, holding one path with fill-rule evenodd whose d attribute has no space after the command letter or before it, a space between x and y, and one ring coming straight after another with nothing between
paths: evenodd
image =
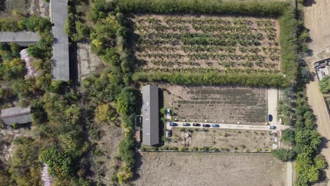
<instances>
[{"instance_id":1,"label":"long dark grey gabled building left of the parked cars","mask_svg":"<svg viewBox=\"0 0 330 186\"><path fill-rule=\"evenodd\" d=\"M142 87L142 144L159 144L158 87Z\"/></svg>"}]
</instances>

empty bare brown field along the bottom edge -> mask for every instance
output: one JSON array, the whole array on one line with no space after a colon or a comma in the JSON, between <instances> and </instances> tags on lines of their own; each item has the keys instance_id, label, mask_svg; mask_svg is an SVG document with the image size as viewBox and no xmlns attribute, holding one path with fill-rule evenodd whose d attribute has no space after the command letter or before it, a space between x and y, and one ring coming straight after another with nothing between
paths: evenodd
<instances>
[{"instance_id":1,"label":"empty bare brown field along the bottom edge","mask_svg":"<svg viewBox=\"0 0 330 186\"><path fill-rule=\"evenodd\" d=\"M136 186L286 185L286 163L271 154L142 152Z\"/></svg>"}]
</instances>

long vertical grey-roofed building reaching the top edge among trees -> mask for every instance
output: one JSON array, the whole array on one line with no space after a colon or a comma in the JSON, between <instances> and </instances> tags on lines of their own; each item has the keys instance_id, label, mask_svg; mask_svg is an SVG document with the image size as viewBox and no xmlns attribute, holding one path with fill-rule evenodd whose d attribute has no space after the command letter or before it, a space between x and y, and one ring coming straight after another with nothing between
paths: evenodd
<instances>
[{"instance_id":1,"label":"long vertical grey-roofed building reaching the top edge among trees","mask_svg":"<svg viewBox=\"0 0 330 186\"><path fill-rule=\"evenodd\" d=\"M51 23L53 23L53 78L70 80L68 35L64 31L68 18L68 0L51 0L49 6Z\"/></svg>"}]
</instances>

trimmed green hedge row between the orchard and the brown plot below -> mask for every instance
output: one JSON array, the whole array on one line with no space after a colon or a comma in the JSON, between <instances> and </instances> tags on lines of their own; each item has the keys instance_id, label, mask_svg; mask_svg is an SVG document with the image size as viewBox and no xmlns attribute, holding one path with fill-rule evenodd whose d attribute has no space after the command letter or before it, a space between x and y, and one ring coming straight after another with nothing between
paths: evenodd
<instances>
[{"instance_id":1,"label":"trimmed green hedge row between the orchard and the brown plot below","mask_svg":"<svg viewBox=\"0 0 330 186\"><path fill-rule=\"evenodd\" d=\"M177 85L247 85L252 87L285 87L283 75L265 73L135 73L133 80L169 82Z\"/></svg>"}]
</instances>

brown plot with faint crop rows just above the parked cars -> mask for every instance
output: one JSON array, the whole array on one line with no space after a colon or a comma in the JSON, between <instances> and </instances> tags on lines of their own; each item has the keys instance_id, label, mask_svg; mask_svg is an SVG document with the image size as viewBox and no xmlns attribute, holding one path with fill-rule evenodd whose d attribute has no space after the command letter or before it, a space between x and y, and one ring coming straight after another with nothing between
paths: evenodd
<instances>
[{"instance_id":1,"label":"brown plot with faint crop rows just above the parked cars","mask_svg":"<svg viewBox=\"0 0 330 186\"><path fill-rule=\"evenodd\" d=\"M173 110L172 120L264 125L267 119L267 89L168 84L159 87L164 90L164 107Z\"/></svg>"}]
</instances>

